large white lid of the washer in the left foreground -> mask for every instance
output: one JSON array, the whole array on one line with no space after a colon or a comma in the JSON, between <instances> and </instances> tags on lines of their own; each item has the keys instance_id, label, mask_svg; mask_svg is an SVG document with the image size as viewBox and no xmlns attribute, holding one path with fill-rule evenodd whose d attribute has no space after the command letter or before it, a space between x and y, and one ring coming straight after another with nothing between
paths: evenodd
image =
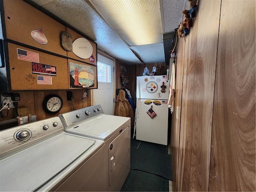
<instances>
[{"instance_id":1,"label":"large white lid of the washer in the left foreground","mask_svg":"<svg viewBox=\"0 0 256 192\"><path fill-rule=\"evenodd\" d=\"M0 161L0 191L34 191L93 146L62 133Z\"/></svg>"}]
</instances>

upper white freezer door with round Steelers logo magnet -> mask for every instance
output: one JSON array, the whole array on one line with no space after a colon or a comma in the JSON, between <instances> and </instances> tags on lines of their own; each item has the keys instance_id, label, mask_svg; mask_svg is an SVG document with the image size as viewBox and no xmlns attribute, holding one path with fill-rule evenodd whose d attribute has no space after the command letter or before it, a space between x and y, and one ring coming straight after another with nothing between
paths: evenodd
<instances>
[{"instance_id":1,"label":"upper white freezer door with round Steelers logo magnet","mask_svg":"<svg viewBox=\"0 0 256 192\"><path fill-rule=\"evenodd\" d=\"M165 92L161 86L166 86ZM167 76L138 76L136 98L137 99L160 99L168 100L169 96L169 81Z\"/></svg>"}]
</instances>

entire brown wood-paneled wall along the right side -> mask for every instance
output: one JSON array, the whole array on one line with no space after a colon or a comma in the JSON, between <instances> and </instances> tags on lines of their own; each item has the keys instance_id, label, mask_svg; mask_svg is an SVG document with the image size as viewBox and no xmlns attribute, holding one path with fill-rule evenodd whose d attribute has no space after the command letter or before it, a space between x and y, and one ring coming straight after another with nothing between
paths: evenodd
<instances>
[{"instance_id":1,"label":"entire brown wood-paneled wall along the right side","mask_svg":"<svg viewBox=\"0 0 256 192\"><path fill-rule=\"evenodd\" d=\"M198 7L177 51L174 190L255 191L255 1Z\"/></svg>"}]
</instances>

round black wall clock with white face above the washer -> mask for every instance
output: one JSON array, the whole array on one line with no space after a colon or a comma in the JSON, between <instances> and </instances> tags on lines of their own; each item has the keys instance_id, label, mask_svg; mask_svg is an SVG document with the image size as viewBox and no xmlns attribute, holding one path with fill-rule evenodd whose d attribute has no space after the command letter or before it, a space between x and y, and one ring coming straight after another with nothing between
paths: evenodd
<instances>
[{"instance_id":1,"label":"round black wall clock with white face above the washer","mask_svg":"<svg viewBox=\"0 0 256 192\"><path fill-rule=\"evenodd\" d=\"M49 95L44 99L43 107L47 113L57 113L62 106L62 98L58 95Z\"/></svg>"}]
</instances>

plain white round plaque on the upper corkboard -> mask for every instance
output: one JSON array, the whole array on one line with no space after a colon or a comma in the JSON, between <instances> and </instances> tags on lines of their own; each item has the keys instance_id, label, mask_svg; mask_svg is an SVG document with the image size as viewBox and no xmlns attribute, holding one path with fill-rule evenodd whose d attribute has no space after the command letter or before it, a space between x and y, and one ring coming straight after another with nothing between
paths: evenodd
<instances>
[{"instance_id":1,"label":"plain white round plaque on the upper corkboard","mask_svg":"<svg viewBox=\"0 0 256 192\"><path fill-rule=\"evenodd\" d=\"M86 38L77 38L72 44L73 53L82 58L88 59L92 56L92 45Z\"/></svg>"}]
</instances>

